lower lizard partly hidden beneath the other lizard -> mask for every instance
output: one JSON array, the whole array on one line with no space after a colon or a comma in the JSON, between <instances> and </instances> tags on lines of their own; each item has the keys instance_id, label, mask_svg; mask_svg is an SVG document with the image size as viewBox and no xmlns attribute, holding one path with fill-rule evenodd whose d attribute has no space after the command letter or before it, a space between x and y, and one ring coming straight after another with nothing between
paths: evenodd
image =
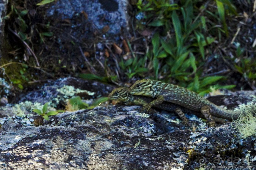
<instances>
[{"instance_id":1,"label":"lower lizard partly hidden beneath the other lizard","mask_svg":"<svg viewBox=\"0 0 256 170\"><path fill-rule=\"evenodd\" d=\"M115 88L109 95L109 100L118 100L121 102L124 102L125 104L135 104L135 105L144 105L147 103L150 103L154 100L154 98L147 97L147 96L141 96L141 95L131 95L129 93L129 89L122 87L122 88ZM188 124L188 119L185 116L184 112L189 114L195 114L196 116L200 118L205 118L200 112L195 112L192 110L189 110L185 107L179 106L174 103L170 102L163 102L161 105L154 106L161 110L166 110L169 112L175 112L178 114L178 116L183 120L185 124ZM225 123L226 121L224 119L213 117L216 122L219 123Z\"/></svg>"}]
</instances>

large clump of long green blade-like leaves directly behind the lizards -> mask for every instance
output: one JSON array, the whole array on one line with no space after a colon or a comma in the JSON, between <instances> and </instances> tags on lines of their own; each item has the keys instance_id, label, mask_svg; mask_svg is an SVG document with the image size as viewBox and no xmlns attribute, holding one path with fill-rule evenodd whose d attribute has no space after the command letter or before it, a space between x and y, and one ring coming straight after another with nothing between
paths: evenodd
<instances>
[{"instance_id":1,"label":"large clump of long green blade-like leaves directly behind the lizards","mask_svg":"<svg viewBox=\"0 0 256 170\"><path fill-rule=\"evenodd\" d=\"M198 4L201 6L198 8ZM212 54L213 46L225 34L228 36L226 17L237 15L234 5L229 1L215 1L216 9L207 8L208 3L182 0L180 4L170 4L168 0L139 0L140 21L144 27L155 27L151 48L144 57L135 56L119 63L128 78L145 76L170 82L175 79L179 85L201 95L210 91L211 84L224 80L224 76L204 76L203 65ZM212 18L209 20L208 18ZM216 25L222 27L216 27ZM138 28L141 24L138 24ZM144 29L142 27L142 29ZM145 68L146 67L146 68ZM148 76L148 75L146 75ZM234 85L214 88L233 88Z\"/></svg>"}]
</instances>

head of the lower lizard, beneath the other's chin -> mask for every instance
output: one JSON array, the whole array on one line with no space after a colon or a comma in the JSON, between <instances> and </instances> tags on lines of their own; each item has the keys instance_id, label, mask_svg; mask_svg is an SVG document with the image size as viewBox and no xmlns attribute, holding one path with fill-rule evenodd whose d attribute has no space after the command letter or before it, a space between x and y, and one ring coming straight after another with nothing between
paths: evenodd
<instances>
[{"instance_id":1,"label":"head of the lower lizard, beneath the other's chin","mask_svg":"<svg viewBox=\"0 0 256 170\"><path fill-rule=\"evenodd\" d=\"M128 101L129 89L125 87L115 88L109 95L109 100Z\"/></svg>"}]
</instances>

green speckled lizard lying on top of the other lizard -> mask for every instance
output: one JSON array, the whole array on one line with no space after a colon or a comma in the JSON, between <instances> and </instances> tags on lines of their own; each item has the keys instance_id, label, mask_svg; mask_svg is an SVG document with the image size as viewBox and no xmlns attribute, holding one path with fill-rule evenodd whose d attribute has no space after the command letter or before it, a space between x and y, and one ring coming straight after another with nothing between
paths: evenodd
<instances>
[{"instance_id":1,"label":"green speckled lizard lying on top of the other lizard","mask_svg":"<svg viewBox=\"0 0 256 170\"><path fill-rule=\"evenodd\" d=\"M129 90L132 95L156 98L143 105L146 110L149 110L152 106L161 105L163 101L168 101L189 110L201 112L210 121L211 126L215 125L213 116L232 120L232 118L237 119L240 115L240 112L222 109L199 94L174 84L144 79L136 81Z\"/></svg>"}]
</instances>

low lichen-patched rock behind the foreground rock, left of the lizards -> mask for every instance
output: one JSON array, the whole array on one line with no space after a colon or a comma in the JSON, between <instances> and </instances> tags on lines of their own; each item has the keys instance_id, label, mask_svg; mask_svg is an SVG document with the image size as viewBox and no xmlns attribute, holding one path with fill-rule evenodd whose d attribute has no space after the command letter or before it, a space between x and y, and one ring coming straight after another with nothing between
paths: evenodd
<instances>
[{"instance_id":1,"label":"low lichen-patched rock behind the foreground rock, left of the lizards","mask_svg":"<svg viewBox=\"0 0 256 170\"><path fill-rule=\"evenodd\" d=\"M60 78L56 81L49 81L39 89L21 94L13 103L33 101L34 103L38 102L44 104L52 101L55 105L59 105L60 101L69 99L78 93L85 99L95 99L101 96L108 96L113 89L114 86L106 85L101 82L67 77Z\"/></svg>"}]
</instances>

